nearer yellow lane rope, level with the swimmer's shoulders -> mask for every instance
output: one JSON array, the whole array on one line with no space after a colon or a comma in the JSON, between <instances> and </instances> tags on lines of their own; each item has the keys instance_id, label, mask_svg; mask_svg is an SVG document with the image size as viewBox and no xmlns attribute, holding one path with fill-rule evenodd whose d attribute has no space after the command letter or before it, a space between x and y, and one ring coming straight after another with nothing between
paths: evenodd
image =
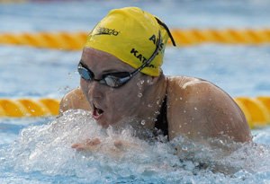
<instances>
[{"instance_id":1,"label":"nearer yellow lane rope, level with the swimmer's shoulders","mask_svg":"<svg viewBox=\"0 0 270 184\"><path fill-rule=\"evenodd\" d=\"M249 127L270 125L270 97L237 97L234 100L243 110ZM58 99L0 99L0 117L49 117L58 115Z\"/></svg>"}]
</instances>

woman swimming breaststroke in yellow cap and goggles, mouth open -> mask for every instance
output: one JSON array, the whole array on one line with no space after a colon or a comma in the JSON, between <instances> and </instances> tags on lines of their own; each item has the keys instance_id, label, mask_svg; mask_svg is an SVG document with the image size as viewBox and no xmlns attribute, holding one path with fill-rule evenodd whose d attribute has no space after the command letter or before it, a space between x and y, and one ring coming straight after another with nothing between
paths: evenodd
<instances>
[{"instance_id":1,"label":"woman swimming breaststroke in yellow cap and goggles, mouth open","mask_svg":"<svg viewBox=\"0 0 270 184\"><path fill-rule=\"evenodd\" d=\"M226 92L202 79L163 74L168 39L175 45L157 16L137 7L112 10L86 39L77 66L80 87L63 97L60 114L89 110L103 128L157 128L169 141L185 136L203 144L209 138L251 142L247 120ZM102 144L88 143L72 147ZM114 145L129 144L116 140Z\"/></svg>"}]
</instances>

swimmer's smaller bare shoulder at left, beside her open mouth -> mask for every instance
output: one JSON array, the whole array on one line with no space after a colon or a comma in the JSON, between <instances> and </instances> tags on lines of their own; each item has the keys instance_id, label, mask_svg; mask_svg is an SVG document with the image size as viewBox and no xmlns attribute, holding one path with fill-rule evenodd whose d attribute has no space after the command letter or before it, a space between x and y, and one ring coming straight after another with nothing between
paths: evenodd
<instances>
[{"instance_id":1,"label":"swimmer's smaller bare shoulder at left, beside her open mouth","mask_svg":"<svg viewBox=\"0 0 270 184\"><path fill-rule=\"evenodd\" d=\"M75 88L62 98L59 104L59 115L61 115L66 110L91 110L84 92L81 88Z\"/></svg>"}]
</instances>

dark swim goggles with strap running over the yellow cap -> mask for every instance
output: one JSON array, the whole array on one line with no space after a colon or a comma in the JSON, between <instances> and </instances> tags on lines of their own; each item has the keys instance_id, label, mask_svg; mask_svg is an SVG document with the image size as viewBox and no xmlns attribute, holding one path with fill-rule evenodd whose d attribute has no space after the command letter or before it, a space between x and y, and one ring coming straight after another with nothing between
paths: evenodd
<instances>
[{"instance_id":1,"label":"dark swim goggles with strap running over the yellow cap","mask_svg":"<svg viewBox=\"0 0 270 184\"><path fill-rule=\"evenodd\" d=\"M81 75L83 79L89 82L97 81L99 83L106 84L112 88L119 88L123 84L130 81L130 79L135 75L138 74L140 70L142 70L144 67L148 66L149 63L157 56L158 49L161 48L162 39L161 39L161 33L159 31L158 35L158 44L157 48L155 49L153 55L148 59L147 62L145 62L142 66L140 66L138 69L136 69L134 72L120 72L120 73L112 73L112 74L104 74L102 79L95 79L93 72L89 70L82 62L80 62L77 66L77 71Z\"/></svg>"}]
</instances>

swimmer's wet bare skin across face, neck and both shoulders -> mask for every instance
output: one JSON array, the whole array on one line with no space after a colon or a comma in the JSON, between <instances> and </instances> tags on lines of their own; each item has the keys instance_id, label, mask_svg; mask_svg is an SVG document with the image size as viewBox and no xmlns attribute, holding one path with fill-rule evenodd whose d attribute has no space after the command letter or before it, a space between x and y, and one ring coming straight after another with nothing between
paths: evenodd
<instances>
[{"instance_id":1,"label":"swimmer's wet bare skin across face, neck and both shoulders","mask_svg":"<svg viewBox=\"0 0 270 184\"><path fill-rule=\"evenodd\" d=\"M84 48L81 62L94 73L95 79L103 78L104 74L135 70L117 57L94 48ZM81 78L80 87L62 99L60 110L90 110L103 128L125 123L151 128L165 95L170 140L187 136L201 143L207 143L211 137L251 141L247 120L235 101L214 84L193 77L164 74L152 77L139 73L120 88ZM142 120L144 125L140 123Z\"/></svg>"}]
</instances>

